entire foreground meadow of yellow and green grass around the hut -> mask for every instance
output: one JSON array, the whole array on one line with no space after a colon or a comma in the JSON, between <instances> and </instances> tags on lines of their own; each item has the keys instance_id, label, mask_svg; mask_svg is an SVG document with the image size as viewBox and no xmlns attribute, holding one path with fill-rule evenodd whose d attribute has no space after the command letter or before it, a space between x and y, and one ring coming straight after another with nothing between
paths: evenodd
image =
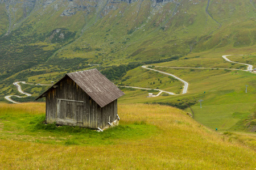
<instances>
[{"instance_id":1,"label":"entire foreground meadow of yellow and green grass around the hut","mask_svg":"<svg viewBox=\"0 0 256 170\"><path fill-rule=\"evenodd\" d=\"M119 104L120 125L103 133L44 125L44 108L0 103L1 169L256 167L255 136L216 133L176 108Z\"/></svg>"}]
</instances>

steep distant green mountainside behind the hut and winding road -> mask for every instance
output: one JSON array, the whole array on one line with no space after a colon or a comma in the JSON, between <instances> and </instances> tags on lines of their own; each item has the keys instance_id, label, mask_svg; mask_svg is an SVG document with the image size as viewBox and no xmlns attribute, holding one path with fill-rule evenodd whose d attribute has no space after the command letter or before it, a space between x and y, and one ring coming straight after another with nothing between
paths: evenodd
<instances>
[{"instance_id":1,"label":"steep distant green mountainside behind the hut and winding road","mask_svg":"<svg viewBox=\"0 0 256 170\"><path fill-rule=\"evenodd\" d=\"M255 49L255 2L249 0L38 0L1 2L0 8L0 87L25 80L29 70L67 73L89 64L105 69L194 52Z\"/></svg>"}]
</instances>

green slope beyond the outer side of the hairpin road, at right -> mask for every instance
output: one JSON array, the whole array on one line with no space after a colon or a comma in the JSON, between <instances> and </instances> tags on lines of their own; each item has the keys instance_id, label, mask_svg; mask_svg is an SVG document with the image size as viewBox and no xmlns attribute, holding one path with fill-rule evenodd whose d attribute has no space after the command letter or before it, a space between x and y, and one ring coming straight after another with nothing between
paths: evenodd
<instances>
[{"instance_id":1,"label":"green slope beyond the outer side of the hairpin road, at right","mask_svg":"<svg viewBox=\"0 0 256 170\"><path fill-rule=\"evenodd\" d=\"M200 60L197 60L198 58ZM255 65L255 57L253 56L229 56L229 58L237 62ZM212 54L156 65L243 68L242 65L225 62L221 56L213 56ZM195 120L201 122L201 124L219 130L255 131L254 124L250 124L250 121L254 120L253 115L256 110L255 74L231 70L155 68L175 74L188 81L188 96L194 96L192 99L199 100L199 98L196 98L196 94L203 94L200 97L204 100L203 109L200 109L198 104L192 107L195 112ZM247 94L245 93L245 85L249 86ZM184 96L184 98L188 96Z\"/></svg>"}]
</instances>

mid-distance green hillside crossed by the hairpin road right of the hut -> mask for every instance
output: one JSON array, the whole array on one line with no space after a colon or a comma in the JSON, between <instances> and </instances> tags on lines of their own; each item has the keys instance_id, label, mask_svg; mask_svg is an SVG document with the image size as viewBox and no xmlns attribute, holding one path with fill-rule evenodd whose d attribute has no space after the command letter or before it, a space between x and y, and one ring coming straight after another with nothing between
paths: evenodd
<instances>
[{"instance_id":1,"label":"mid-distance green hillside crossed by the hairpin road right of the hut","mask_svg":"<svg viewBox=\"0 0 256 170\"><path fill-rule=\"evenodd\" d=\"M185 101L191 105L195 120L211 129L255 131L256 75L246 71L227 69L170 68L171 66L230 69L242 69L244 67L240 64L226 62L217 54L201 53L200 56L197 56L198 54L189 54L178 61L153 64L156 66L154 69L174 74L187 81L189 83L187 94L146 97L148 91L124 89L126 95L121 97L119 101L121 103L159 103L175 105L178 108L185 108L186 105L183 102ZM234 59L234 61L241 59L241 62L255 65L253 56L229 56L229 58ZM123 79L116 84L120 82L125 86L159 87L161 90L176 92L176 94L179 94L184 86L181 82L173 81L166 75L143 68L128 71ZM248 85L247 94L245 93L245 85ZM199 99L204 100L202 109L198 102ZM189 108L185 111L192 112Z\"/></svg>"}]
</instances>

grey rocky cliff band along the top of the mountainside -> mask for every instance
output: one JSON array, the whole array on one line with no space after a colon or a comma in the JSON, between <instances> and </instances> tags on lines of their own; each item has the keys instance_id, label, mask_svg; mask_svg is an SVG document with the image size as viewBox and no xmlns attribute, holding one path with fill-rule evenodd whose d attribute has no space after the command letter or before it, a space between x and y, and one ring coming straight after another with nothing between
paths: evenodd
<instances>
[{"instance_id":1,"label":"grey rocky cliff band along the top of the mountainside","mask_svg":"<svg viewBox=\"0 0 256 170\"><path fill-rule=\"evenodd\" d=\"M84 11L85 14L91 12L97 13L97 18L102 18L110 11L117 10L120 5L126 6L133 3L141 4L144 0L0 0L0 5L5 6L5 12L8 16L9 24L6 27L6 35L18 27L31 12L38 12L40 15L46 14L46 10L52 9L52 15L61 12L60 16L73 16L78 11ZM158 10L166 3L177 3L174 0L150 0L148 1L152 8ZM43 9L43 10L40 10ZM122 11L120 11L122 12Z\"/></svg>"}]
</instances>

